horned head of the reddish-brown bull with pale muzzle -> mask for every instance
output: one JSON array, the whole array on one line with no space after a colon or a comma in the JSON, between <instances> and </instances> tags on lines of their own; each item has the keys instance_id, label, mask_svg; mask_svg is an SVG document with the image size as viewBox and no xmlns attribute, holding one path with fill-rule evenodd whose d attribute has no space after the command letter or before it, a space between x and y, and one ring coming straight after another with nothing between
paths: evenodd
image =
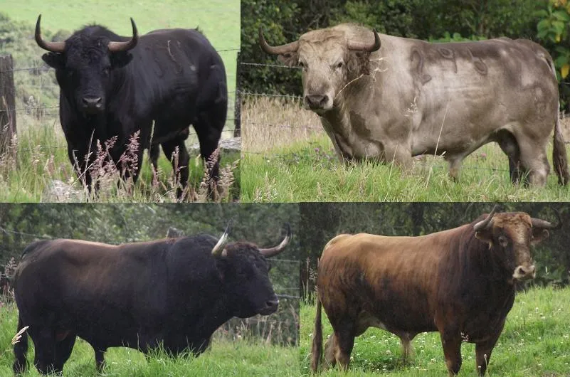
<instances>
[{"instance_id":1,"label":"horned head of the reddish-brown bull with pale muzzle","mask_svg":"<svg viewBox=\"0 0 570 377\"><path fill-rule=\"evenodd\" d=\"M558 225L552 225L523 212L495 214L496 209L473 225L475 237L489 243L503 267L512 271L514 279L534 279L537 270L530 255L530 245L546 239L549 229L559 227L560 219Z\"/></svg>"}]
</instances>

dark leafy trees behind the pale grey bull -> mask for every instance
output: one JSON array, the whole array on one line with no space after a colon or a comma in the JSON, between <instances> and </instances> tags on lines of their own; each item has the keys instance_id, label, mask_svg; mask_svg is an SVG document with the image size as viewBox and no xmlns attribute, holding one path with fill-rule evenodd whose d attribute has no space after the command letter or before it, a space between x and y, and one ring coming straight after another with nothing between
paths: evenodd
<instances>
[{"instance_id":1,"label":"dark leafy trees behind the pale grey bull","mask_svg":"<svg viewBox=\"0 0 570 377\"><path fill-rule=\"evenodd\" d=\"M380 33L429 41L480 38L529 38L553 54L555 43L537 38L537 24L554 0L242 0L241 59L275 64L258 46L258 29L272 45L295 41L302 33L341 22L359 23ZM550 8L549 8L550 7ZM542 14L538 11L542 10ZM564 26L564 28L567 28ZM554 41L564 44L559 31ZM561 41L562 39L562 41ZM300 70L243 66L243 89L250 92L301 94Z\"/></svg>"}]
</instances>

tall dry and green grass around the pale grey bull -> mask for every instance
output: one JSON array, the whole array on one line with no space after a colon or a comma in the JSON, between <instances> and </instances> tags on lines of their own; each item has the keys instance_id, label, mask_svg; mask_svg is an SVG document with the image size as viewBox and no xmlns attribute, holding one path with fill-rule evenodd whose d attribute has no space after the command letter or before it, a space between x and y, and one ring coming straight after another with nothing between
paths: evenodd
<instances>
[{"instance_id":1,"label":"tall dry and green grass around the pale grey bull","mask_svg":"<svg viewBox=\"0 0 570 377\"><path fill-rule=\"evenodd\" d=\"M374 162L344 166L317 115L295 100L246 97L242 124L245 202L570 200L570 188L557 184L551 145L547 186L524 188L510 183L507 156L495 143L470 154L455 182L440 156L415 158L407 174Z\"/></svg>"}]
</instances>

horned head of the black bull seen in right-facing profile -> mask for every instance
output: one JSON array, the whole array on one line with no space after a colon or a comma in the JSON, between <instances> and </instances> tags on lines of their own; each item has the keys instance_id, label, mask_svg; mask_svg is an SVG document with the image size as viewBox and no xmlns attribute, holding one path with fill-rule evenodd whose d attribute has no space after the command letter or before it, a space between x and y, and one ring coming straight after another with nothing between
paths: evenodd
<instances>
[{"instance_id":1,"label":"horned head of the black bull seen in right-facing profile","mask_svg":"<svg viewBox=\"0 0 570 377\"><path fill-rule=\"evenodd\" d=\"M228 297L231 297L236 317L247 318L255 314L269 315L278 309L279 299L269 280L271 265L266 258L285 250L291 239L287 235L273 248L258 248L247 242L227 243L228 228L212 249L224 282Z\"/></svg>"}]
</instances>

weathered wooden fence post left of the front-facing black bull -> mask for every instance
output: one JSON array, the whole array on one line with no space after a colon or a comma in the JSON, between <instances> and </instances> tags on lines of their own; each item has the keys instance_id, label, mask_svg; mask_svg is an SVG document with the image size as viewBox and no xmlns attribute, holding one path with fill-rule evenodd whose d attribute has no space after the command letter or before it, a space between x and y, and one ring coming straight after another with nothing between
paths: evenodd
<instances>
[{"instance_id":1,"label":"weathered wooden fence post left of the front-facing black bull","mask_svg":"<svg viewBox=\"0 0 570 377\"><path fill-rule=\"evenodd\" d=\"M16 134L16 88L12 55L0 55L0 154Z\"/></svg>"}]
</instances>

